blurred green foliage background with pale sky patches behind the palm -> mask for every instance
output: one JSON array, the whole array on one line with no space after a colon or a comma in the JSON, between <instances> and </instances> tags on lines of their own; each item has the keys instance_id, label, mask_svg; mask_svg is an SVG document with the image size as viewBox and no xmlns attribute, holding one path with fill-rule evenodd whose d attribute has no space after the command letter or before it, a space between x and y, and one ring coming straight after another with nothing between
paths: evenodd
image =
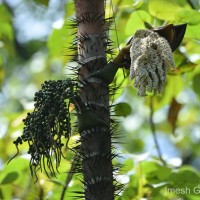
<instances>
[{"instance_id":1,"label":"blurred green foliage background with pale sky patches behind the palm","mask_svg":"<svg viewBox=\"0 0 200 200\"><path fill-rule=\"evenodd\" d=\"M137 29L145 28L144 22L154 27L188 24L185 38L174 53L177 70L168 75L162 95L138 97L128 73L126 78L122 70L117 73L115 82L122 87L115 95L115 102L121 103L115 110L121 115L123 137L116 144L121 157L114 164L122 165L118 180L125 184L117 199L199 199L199 9L197 0L107 1L106 15L116 14L110 31L116 53ZM12 141L22 133L22 119L33 109L34 93L45 80L65 79L70 73L68 66L76 65L66 56L74 32L69 18L74 14L72 0L0 1L0 199L60 199L72 152L64 149L66 158L57 178L49 180L39 172L36 183L30 175L26 144L20 148L20 156L9 165L7 162L16 153ZM151 132L151 100L166 166L159 160ZM73 135L72 146L77 137ZM70 182L65 199L82 190L78 179L75 176Z\"/></svg>"}]
</instances>

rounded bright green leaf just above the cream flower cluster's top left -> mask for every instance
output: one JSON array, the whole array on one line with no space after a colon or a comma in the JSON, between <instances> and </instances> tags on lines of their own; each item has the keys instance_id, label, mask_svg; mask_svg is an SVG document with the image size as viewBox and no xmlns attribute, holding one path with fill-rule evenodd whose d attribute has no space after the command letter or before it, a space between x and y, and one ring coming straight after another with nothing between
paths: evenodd
<instances>
[{"instance_id":1,"label":"rounded bright green leaf just above the cream flower cluster's top left","mask_svg":"<svg viewBox=\"0 0 200 200\"><path fill-rule=\"evenodd\" d=\"M144 22L151 23L151 16L144 10L135 11L126 24L126 34L131 36L138 29L146 29Z\"/></svg>"}]
</instances>

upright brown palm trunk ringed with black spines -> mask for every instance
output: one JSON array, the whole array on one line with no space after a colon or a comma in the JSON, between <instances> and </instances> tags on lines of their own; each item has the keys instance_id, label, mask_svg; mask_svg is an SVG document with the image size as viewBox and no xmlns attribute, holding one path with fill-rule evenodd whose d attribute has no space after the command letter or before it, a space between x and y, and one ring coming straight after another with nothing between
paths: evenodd
<instances>
[{"instance_id":1,"label":"upright brown palm trunk ringed with black spines","mask_svg":"<svg viewBox=\"0 0 200 200\"><path fill-rule=\"evenodd\" d=\"M107 64L104 3L104 0L75 0L80 97L87 107L80 110L82 118L78 121L87 200L114 199L109 87L101 78L88 78Z\"/></svg>"}]
</instances>

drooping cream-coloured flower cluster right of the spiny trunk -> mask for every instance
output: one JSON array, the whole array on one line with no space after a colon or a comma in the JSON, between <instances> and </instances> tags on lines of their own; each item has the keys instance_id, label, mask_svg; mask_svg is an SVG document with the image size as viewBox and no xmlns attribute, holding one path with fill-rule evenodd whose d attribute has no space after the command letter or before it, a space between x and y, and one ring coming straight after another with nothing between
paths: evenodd
<instances>
[{"instance_id":1,"label":"drooping cream-coloured flower cluster right of the spiny trunk","mask_svg":"<svg viewBox=\"0 0 200 200\"><path fill-rule=\"evenodd\" d=\"M138 30L132 39L130 56L130 78L135 79L138 95L161 93L167 71L175 68L168 41L151 30Z\"/></svg>"}]
</instances>

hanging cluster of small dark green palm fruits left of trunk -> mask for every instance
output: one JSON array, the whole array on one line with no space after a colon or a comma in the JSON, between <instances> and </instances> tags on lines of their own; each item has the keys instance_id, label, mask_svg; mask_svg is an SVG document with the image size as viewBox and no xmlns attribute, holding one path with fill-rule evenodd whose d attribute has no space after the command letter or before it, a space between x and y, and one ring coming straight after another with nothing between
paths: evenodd
<instances>
[{"instance_id":1,"label":"hanging cluster of small dark green palm fruits left of trunk","mask_svg":"<svg viewBox=\"0 0 200 200\"><path fill-rule=\"evenodd\" d=\"M71 133L69 99L76 95L77 87L70 79L45 81L36 92L35 108L23 120L22 136L13 142L17 149L19 144L28 142L32 173L38 169L47 173L45 165L54 173L54 163L58 168L63 138L68 140Z\"/></svg>"}]
</instances>

